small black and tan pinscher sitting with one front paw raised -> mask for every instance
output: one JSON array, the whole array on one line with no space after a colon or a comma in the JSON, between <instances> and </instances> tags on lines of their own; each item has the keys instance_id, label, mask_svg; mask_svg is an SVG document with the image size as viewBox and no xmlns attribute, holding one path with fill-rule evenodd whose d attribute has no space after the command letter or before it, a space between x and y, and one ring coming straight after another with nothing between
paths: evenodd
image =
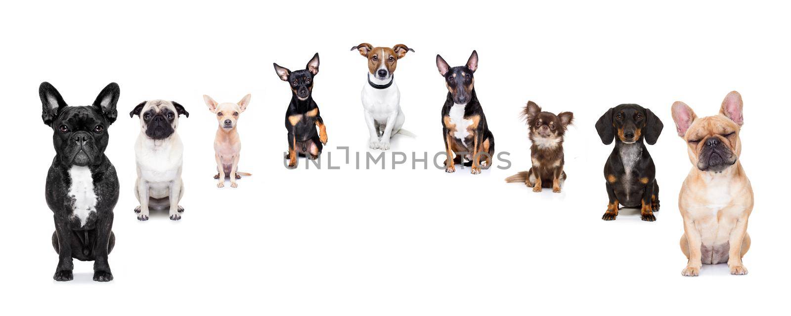
<instances>
[{"instance_id":1,"label":"small black and tan pinscher sitting with one front paw raised","mask_svg":"<svg viewBox=\"0 0 791 316\"><path fill-rule=\"evenodd\" d=\"M275 63L274 71L291 86L291 102L286 110L286 130L289 132L286 159L289 167L293 168L297 167L297 156L310 155L310 159L316 159L323 145L327 145L327 127L312 97L313 77L319 73L319 53L313 55L305 70L291 72ZM319 128L318 133L316 127Z\"/></svg>"}]
</instances>

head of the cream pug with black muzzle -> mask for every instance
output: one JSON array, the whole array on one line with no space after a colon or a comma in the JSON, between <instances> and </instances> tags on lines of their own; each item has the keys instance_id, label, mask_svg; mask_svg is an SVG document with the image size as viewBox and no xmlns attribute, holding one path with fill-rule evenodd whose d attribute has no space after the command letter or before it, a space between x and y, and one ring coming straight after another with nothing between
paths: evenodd
<instances>
[{"instance_id":1,"label":"head of the cream pug with black muzzle","mask_svg":"<svg viewBox=\"0 0 791 316\"><path fill-rule=\"evenodd\" d=\"M143 101L129 112L129 117L134 115L140 117L140 129L146 133L146 137L156 140L176 133L179 115L190 117L181 104L166 100Z\"/></svg>"}]
</instances>

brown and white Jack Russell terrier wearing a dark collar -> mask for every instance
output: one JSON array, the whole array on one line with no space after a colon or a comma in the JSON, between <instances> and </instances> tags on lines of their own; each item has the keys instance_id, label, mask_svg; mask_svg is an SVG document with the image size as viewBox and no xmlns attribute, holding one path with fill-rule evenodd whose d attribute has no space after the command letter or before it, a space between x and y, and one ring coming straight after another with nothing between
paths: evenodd
<instances>
[{"instance_id":1,"label":"brown and white Jack Russell terrier wearing a dark collar","mask_svg":"<svg viewBox=\"0 0 791 316\"><path fill-rule=\"evenodd\" d=\"M371 149L390 149L390 137L403 134L414 137L403 130L403 111L401 111L401 92L395 85L395 65L398 60L413 49L404 44L394 47L373 47L369 43L361 43L351 47L360 51L360 55L368 58L368 73L365 74L367 84L362 87L362 107L365 110L365 124L370 134L368 146Z\"/></svg>"}]
</instances>

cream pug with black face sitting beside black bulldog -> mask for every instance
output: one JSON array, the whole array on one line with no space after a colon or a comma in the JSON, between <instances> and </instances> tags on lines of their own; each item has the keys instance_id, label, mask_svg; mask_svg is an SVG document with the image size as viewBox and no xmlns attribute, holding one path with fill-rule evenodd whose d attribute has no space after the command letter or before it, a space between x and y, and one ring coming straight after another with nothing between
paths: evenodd
<instances>
[{"instance_id":1,"label":"cream pug with black face sitting beside black bulldog","mask_svg":"<svg viewBox=\"0 0 791 316\"><path fill-rule=\"evenodd\" d=\"M171 220L180 220L184 208L179 205L184 196L181 166L184 145L176 130L179 117L190 114L173 101L151 100L138 104L129 117L138 115L140 134L134 144L138 179L134 196L140 205L134 209L138 220L149 219L149 209L168 209Z\"/></svg>"}]
</instances>

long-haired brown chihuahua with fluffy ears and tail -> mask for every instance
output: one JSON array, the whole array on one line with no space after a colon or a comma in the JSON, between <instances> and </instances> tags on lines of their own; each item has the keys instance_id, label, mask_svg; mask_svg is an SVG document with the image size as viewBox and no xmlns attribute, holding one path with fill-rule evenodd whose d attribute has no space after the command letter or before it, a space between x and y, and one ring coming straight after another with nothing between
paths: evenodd
<instances>
[{"instance_id":1,"label":"long-haired brown chihuahua with fluffy ears and tail","mask_svg":"<svg viewBox=\"0 0 791 316\"><path fill-rule=\"evenodd\" d=\"M552 192L560 193L562 182L566 181L566 172L563 171L563 135L566 134L566 127L573 122L574 114L543 112L538 104L528 101L522 117L527 119L528 137L532 142L532 167L506 178L505 182L524 182L533 188L533 192L551 187Z\"/></svg>"}]
</instances>

